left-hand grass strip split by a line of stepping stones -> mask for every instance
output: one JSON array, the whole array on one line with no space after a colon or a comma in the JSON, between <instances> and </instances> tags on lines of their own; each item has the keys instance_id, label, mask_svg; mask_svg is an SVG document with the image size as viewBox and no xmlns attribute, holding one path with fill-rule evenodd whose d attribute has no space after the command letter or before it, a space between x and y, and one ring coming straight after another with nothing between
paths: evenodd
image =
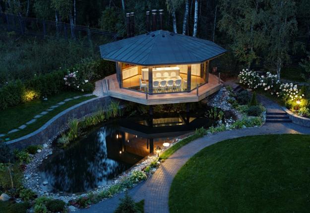
<instances>
[{"instance_id":1,"label":"left-hand grass strip split by a line of stepping stones","mask_svg":"<svg viewBox=\"0 0 310 213\"><path fill-rule=\"evenodd\" d=\"M62 92L59 95L48 97L47 101L44 101L42 99L34 100L28 103L20 104L16 107L11 107L8 109L5 109L3 111L0 111L0 133L6 134L8 131L18 128L21 125L25 124L26 122L33 119L35 115L40 114L41 112L47 110L51 106L63 101L66 98L74 97L77 95L83 95L85 93L81 92ZM93 98L95 96L90 97L80 97L77 99L73 99L71 101L66 102L65 104L55 108L53 111L50 111L48 114L42 116L41 118L38 118L36 122L28 125L25 129L20 130L18 132L9 134L5 136L4 138L9 139L16 139L19 137L22 137L24 135L27 135L37 129L39 129L41 126L43 126L48 120L53 118L58 113L62 112L63 110L78 104L82 101L88 100L90 98Z\"/></svg>"}]
</instances>

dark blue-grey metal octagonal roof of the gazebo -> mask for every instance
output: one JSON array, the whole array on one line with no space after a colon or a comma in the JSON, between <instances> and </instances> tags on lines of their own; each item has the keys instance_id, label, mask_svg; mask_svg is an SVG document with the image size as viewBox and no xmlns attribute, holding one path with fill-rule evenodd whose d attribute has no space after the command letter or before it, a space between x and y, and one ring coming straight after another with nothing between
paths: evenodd
<instances>
[{"instance_id":1,"label":"dark blue-grey metal octagonal roof of the gazebo","mask_svg":"<svg viewBox=\"0 0 310 213\"><path fill-rule=\"evenodd\" d=\"M101 58L143 66L195 64L215 58L226 50L195 37L158 30L101 45Z\"/></svg>"}]
</instances>

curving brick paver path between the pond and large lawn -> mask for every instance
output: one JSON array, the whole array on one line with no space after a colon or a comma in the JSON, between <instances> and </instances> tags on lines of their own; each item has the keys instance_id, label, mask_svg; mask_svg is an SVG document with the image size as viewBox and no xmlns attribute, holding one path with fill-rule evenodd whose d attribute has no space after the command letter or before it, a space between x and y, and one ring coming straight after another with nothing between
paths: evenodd
<instances>
[{"instance_id":1,"label":"curving brick paver path between the pond and large lawn","mask_svg":"<svg viewBox=\"0 0 310 213\"><path fill-rule=\"evenodd\" d=\"M205 136L186 144L172 154L147 181L131 189L129 194L136 202L145 200L144 210L146 213L169 213L168 199L171 183L179 169L190 157L216 142L243 136L267 134L310 134L310 128L293 123L266 123L262 127L225 131ZM77 213L113 213L118 206L119 198L123 196L124 194L117 195L112 199L95 204L89 209L78 210Z\"/></svg>"}]
</instances>

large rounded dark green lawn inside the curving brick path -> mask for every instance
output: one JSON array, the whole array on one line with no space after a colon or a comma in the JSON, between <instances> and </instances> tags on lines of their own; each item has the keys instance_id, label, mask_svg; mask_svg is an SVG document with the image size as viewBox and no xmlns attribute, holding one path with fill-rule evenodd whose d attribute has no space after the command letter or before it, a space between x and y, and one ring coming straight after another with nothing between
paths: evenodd
<instances>
[{"instance_id":1,"label":"large rounded dark green lawn inside the curving brick path","mask_svg":"<svg viewBox=\"0 0 310 213\"><path fill-rule=\"evenodd\" d=\"M173 180L171 213L308 213L310 136L227 140L190 158Z\"/></svg>"}]
</instances>

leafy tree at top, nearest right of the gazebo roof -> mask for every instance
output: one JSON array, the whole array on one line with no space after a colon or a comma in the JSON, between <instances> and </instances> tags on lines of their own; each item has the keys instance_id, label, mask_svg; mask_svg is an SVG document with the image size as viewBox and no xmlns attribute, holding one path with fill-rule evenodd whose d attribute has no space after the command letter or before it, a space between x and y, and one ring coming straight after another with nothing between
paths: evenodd
<instances>
[{"instance_id":1,"label":"leafy tree at top, nearest right of the gazebo roof","mask_svg":"<svg viewBox=\"0 0 310 213\"><path fill-rule=\"evenodd\" d=\"M231 38L234 55L248 68L258 59L258 51L267 44L262 23L266 18L265 0L221 0L219 27Z\"/></svg>"}]
</instances>

